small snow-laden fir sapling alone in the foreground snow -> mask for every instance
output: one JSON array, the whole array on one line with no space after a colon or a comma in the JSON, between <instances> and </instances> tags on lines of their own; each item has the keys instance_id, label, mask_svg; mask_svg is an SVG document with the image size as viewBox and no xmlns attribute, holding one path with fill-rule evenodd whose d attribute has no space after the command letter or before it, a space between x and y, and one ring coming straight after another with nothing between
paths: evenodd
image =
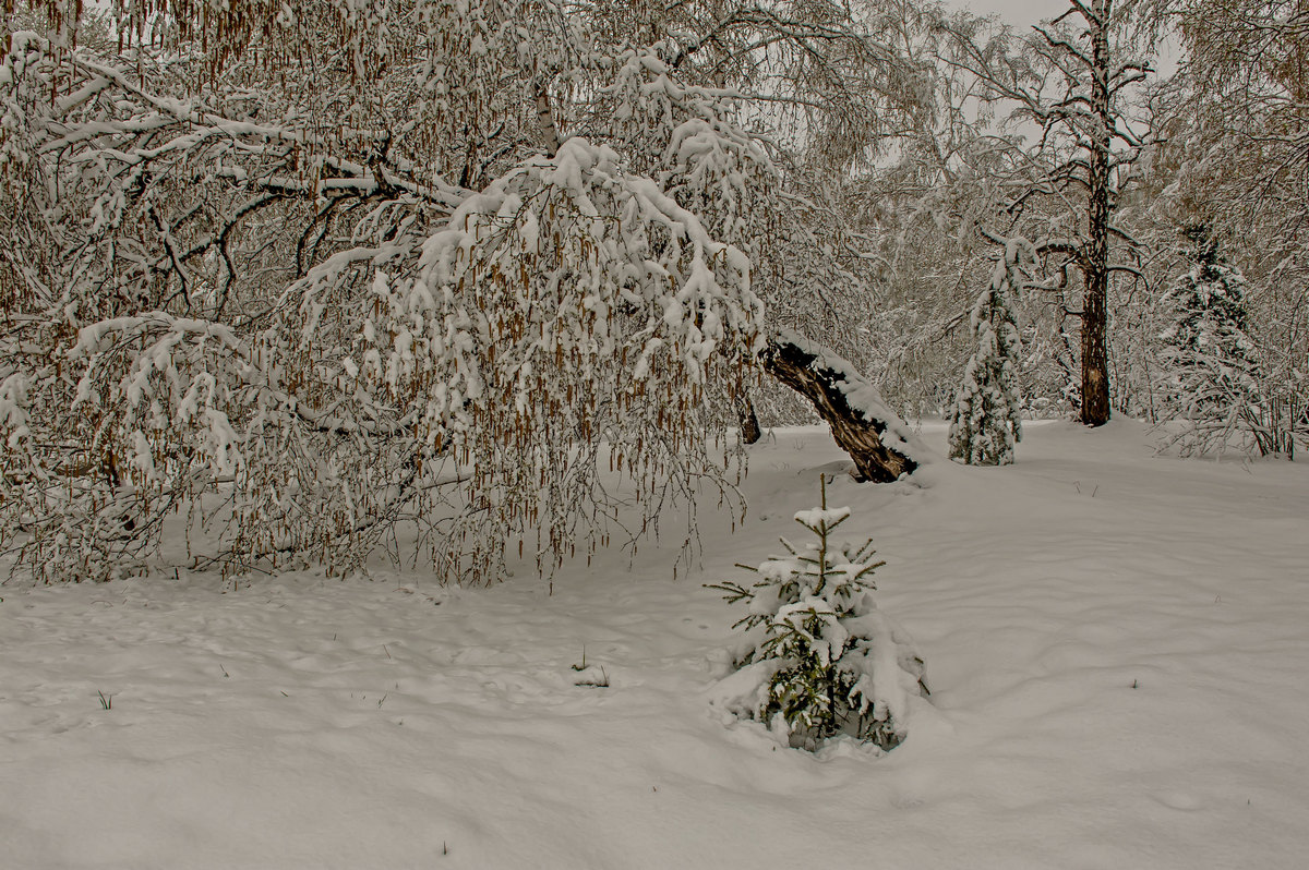
<instances>
[{"instance_id":1,"label":"small snow-laden fir sapling alone in the foreground snow","mask_svg":"<svg viewBox=\"0 0 1309 870\"><path fill-rule=\"evenodd\" d=\"M927 693L923 659L873 600L873 572L885 564L873 561L873 542L833 540L850 508L827 508L826 480L821 492L818 508L795 517L816 540L781 538L785 556L738 565L759 576L753 585L709 585L749 607L734 625L746 652L723 682L723 701L793 747L816 750L844 734L890 750L907 734L908 699Z\"/></svg>"}]
</instances>

